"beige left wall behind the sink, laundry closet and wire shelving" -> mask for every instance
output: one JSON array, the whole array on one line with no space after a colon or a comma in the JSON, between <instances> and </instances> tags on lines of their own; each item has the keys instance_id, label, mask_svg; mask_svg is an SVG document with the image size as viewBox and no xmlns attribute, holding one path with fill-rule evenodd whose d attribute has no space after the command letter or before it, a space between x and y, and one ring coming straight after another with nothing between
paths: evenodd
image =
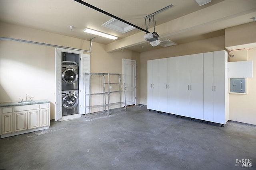
<instances>
[{"instance_id":1,"label":"beige left wall behind the sink, laundry closet and wire shelving","mask_svg":"<svg viewBox=\"0 0 256 170\"><path fill-rule=\"evenodd\" d=\"M0 37L89 49L87 40L67 37L19 25L0 23ZM137 62L140 82L140 53L129 50L106 53L105 45L92 43L91 71L122 73L122 58ZM18 41L0 41L0 102L18 101L26 94L50 100L50 119L55 118L54 47ZM140 88L137 88L140 101Z\"/></svg>"}]
</instances>

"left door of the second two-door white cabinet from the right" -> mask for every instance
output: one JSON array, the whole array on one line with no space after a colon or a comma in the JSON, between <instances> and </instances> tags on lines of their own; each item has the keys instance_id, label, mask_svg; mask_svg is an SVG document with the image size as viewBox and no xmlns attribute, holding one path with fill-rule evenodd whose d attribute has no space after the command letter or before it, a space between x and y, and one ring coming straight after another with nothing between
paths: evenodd
<instances>
[{"instance_id":1,"label":"left door of the second two-door white cabinet from the right","mask_svg":"<svg viewBox=\"0 0 256 170\"><path fill-rule=\"evenodd\" d=\"M190 56L178 57L178 115L190 116Z\"/></svg>"}]
</instances>

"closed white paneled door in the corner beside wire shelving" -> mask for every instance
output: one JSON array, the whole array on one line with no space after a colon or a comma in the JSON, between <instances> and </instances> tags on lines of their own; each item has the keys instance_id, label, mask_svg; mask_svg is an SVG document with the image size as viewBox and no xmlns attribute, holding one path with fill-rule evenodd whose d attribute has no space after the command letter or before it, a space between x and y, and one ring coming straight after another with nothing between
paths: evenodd
<instances>
[{"instance_id":1,"label":"closed white paneled door in the corner beside wire shelving","mask_svg":"<svg viewBox=\"0 0 256 170\"><path fill-rule=\"evenodd\" d=\"M136 61L122 59L126 106L136 104Z\"/></svg>"}]
</instances>

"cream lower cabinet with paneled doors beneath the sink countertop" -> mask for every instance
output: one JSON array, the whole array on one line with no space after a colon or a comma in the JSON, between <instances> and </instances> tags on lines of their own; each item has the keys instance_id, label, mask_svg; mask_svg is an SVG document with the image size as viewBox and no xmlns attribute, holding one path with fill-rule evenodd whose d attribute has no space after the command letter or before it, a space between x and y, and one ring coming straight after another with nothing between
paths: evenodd
<instances>
[{"instance_id":1,"label":"cream lower cabinet with paneled doors beneath the sink countertop","mask_svg":"<svg viewBox=\"0 0 256 170\"><path fill-rule=\"evenodd\" d=\"M50 103L0 107L1 138L50 127Z\"/></svg>"}]
</instances>

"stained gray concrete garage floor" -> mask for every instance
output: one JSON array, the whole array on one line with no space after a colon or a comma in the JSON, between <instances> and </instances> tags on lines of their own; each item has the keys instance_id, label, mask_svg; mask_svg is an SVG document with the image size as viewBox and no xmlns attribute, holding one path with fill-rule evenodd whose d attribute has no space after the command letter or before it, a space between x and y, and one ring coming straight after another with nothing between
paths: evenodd
<instances>
[{"instance_id":1,"label":"stained gray concrete garage floor","mask_svg":"<svg viewBox=\"0 0 256 170\"><path fill-rule=\"evenodd\" d=\"M252 159L252 166L236 166L236 159ZM255 170L256 127L134 106L0 139L0 169Z\"/></svg>"}]
</instances>

